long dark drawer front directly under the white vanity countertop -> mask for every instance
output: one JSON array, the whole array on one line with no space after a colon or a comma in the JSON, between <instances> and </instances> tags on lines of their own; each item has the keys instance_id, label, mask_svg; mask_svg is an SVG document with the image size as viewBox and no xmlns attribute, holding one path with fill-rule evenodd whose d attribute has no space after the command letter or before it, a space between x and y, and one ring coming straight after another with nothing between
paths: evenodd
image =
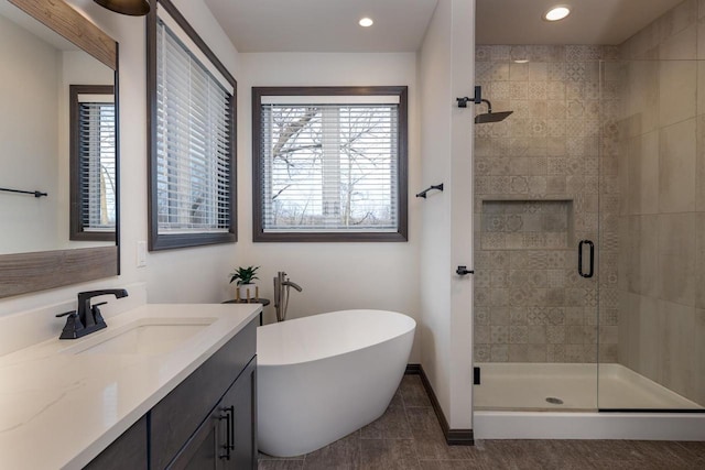
<instances>
[{"instance_id":1,"label":"long dark drawer front directly under the white vanity countertop","mask_svg":"<svg viewBox=\"0 0 705 470\"><path fill-rule=\"evenodd\" d=\"M254 357L257 324L251 320L152 408L150 468L166 467Z\"/></svg>"}]
</instances>

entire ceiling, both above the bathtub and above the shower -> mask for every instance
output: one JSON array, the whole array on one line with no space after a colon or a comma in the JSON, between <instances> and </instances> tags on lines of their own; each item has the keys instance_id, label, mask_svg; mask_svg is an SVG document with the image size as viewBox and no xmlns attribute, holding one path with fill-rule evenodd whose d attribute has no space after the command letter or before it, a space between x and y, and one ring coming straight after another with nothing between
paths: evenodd
<instances>
[{"instance_id":1,"label":"entire ceiling, both above the bathtub and above the shower","mask_svg":"<svg viewBox=\"0 0 705 470\"><path fill-rule=\"evenodd\" d=\"M683 0L476 0L477 44L620 44ZM415 52L437 0L205 0L239 52ZM549 23L550 7L573 13ZM362 17L375 20L360 28Z\"/></svg>"}]
</instances>

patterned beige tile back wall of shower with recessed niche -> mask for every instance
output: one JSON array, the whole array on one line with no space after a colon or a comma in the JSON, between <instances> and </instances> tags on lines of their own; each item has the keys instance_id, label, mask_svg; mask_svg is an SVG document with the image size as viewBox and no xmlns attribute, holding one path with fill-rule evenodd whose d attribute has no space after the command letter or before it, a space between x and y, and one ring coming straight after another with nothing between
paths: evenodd
<instances>
[{"instance_id":1,"label":"patterned beige tile back wall of shower with recessed niche","mask_svg":"<svg viewBox=\"0 0 705 470\"><path fill-rule=\"evenodd\" d=\"M476 48L482 97L513 110L475 125L476 362L595 362L598 336L600 361L617 360L618 96L612 77L601 95L599 80L599 61L616 54ZM599 298L597 276L577 273L577 243L597 244L598 228Z\"/></svg>"}]
</instances>

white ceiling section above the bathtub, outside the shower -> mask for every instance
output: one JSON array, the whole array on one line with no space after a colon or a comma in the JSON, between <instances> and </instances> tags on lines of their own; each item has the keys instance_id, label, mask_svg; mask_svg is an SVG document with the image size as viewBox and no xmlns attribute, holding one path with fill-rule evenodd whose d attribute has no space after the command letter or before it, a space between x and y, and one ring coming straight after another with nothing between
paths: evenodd
<instances>
[{"instance_id":1,"label":"white ceiling section above the bathtub, outside the shower","mask_svg":"<svg viewBox=\"0 0 705 470\"><path fill-rule=\"evenodd\" d=\"M205 2L238 52L415 52L437 0Z\"/></svg>"}]
</instances>

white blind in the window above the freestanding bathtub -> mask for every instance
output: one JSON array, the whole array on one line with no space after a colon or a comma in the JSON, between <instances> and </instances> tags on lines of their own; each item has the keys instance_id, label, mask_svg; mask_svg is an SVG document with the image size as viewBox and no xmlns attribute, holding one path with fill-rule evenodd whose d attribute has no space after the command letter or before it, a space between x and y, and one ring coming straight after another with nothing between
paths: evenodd
<instances>
[{"instance_id":1,"label":"white blind in the window above the freestanding bathtub","mask_svg":"<svg viewBox=\"0 0 705 470\"><path fill-rule=\"evenodd\" d=\"M261 120L264 232L398 230L398 97L270 96Z\"/></svg>"}]
</instances>

